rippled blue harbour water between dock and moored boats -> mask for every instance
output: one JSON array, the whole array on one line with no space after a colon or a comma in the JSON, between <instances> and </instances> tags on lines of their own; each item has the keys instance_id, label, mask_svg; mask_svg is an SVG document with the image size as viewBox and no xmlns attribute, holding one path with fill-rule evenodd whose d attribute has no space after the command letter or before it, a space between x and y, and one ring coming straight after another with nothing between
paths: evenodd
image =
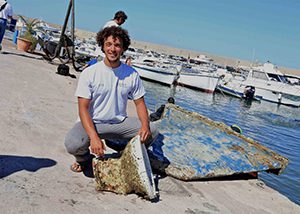
<instances>
[{"instance_id":1,"label":"rippled blue harbour water between dock and moored boats","mask_svg":"<svg viewBox=\"0 0 300 214\"><path fill-rule=\"evenodd\" d=\"M155 111L170 97L169 87L143 81L148 108ZM207 94L177 87L175 102L227 125L238 125L243 134L289 159L281 175L259 173L268 186L300 204L300 108L265 101L248 103L221 93Z\"/></svg>"}]
</instances>

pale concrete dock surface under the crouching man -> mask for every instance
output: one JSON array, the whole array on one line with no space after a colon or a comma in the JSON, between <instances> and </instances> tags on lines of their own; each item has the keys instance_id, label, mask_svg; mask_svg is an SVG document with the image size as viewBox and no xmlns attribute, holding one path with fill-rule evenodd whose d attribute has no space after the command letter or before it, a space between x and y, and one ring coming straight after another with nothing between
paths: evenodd
<instances>
[{"instance_id":1,"label":"pale concrete dock surface under the crouching man","mask_svg":"<svg viewBox=\"0 0 300 214\"><path fill-rule=\"evenodd\" d=\"M1 213L300 213L300 206L262 181L183 182L159 177L159 200L97 192L94 180L70 170L64 137L77 119L78 78L16 50L0 54ZM79 73L70 71L77 77ZM128 109L134 113L132 103Z\"/></svg>"}]
</instances>

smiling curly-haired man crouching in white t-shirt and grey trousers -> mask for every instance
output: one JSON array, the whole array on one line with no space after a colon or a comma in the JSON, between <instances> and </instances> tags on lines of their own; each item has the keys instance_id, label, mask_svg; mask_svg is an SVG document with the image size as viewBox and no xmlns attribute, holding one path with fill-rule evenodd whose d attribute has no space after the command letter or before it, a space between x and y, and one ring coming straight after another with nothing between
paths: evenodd
<instances>
[{"instance_id":1,"label":"smiling curly-haired man crouching in white t-shirt and grey trousers","mask_svg":"<svg viewBox=\"0 0 300 214\"><path fill-rule=\"evenodd\" d=\"M81 73L75 92L80 120L65 138L67 151L76 159L71 165L75 172L91 168L90 151L103 156L103 139L118 151L136 135L146 146L158 135L156 126L149 122L138 72L120 61L130 45L128 32L116 26L104 28L97 34L97 43L105 58ZM138 118L127 116L128 99L134 101Z\"/></svg>"}]
</instances>

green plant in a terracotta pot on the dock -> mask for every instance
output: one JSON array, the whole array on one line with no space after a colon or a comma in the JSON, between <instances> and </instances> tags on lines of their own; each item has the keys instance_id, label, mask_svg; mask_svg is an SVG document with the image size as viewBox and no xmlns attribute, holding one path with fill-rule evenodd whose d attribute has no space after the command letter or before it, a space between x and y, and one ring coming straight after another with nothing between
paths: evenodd
<instances>
[{"instance_id":1,"label":"green plant in a terracotta pot on the dock","mask_svg":"<svg viewBox=\"0 0 300 214\"><path fill-rule=\"evenodd\" d=\"M27 20L20 16L25 24L26 31L21 33L17 40L18 50L33 52L37 45L37 39L34 37L36 25L39 23L37 19Z\"/></svg>"}]
</instances>

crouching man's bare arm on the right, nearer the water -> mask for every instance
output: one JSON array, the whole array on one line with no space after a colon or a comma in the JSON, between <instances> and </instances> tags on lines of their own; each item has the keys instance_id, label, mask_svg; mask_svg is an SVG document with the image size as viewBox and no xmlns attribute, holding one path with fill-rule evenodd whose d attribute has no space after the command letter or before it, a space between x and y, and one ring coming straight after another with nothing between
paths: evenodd
<instances>
[{"instance_id":1,"label":"crouching man's bare arm on the right, nearer the water","mask_svg":"<svg viewBox=\"0 0 300 214\"><path fill-rule=\"evenodd\" d=\"M144 143L147 139L151 137L148 110L145 104L144 97L134 100L134 104L136 106L136 111L142 124L142 127L138 134L141 137L141 141Z\"/></svg>"}]
</instances>

